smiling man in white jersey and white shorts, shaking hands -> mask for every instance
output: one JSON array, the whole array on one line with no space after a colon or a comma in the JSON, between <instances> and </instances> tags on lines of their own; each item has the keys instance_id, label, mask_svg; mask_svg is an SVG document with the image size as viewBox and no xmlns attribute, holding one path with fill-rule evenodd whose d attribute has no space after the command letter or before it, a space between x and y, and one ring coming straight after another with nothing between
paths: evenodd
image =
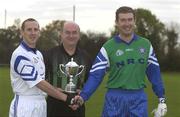
<instances>
[{"instance_id":1,"label":"smiling man in white jersey and white shorts, shaking hands","mask_svg":"<svg viewBox=\"0 0 180 117\"><path fill-rule=\"evenodd\" d=\"M36 47L40 36L39 23L26 19L21 27L22 42L13 52L10 62L10 77L14 99L9 117L46 117L46 93L72 106L73 97L61 93L45 81L45 65L42 54Z\"/></svg>"}]
</instances>

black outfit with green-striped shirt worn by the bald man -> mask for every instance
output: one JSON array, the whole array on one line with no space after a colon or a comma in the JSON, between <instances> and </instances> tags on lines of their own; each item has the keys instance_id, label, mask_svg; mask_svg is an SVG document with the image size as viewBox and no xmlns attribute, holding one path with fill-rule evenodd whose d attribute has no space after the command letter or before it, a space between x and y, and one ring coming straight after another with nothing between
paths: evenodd
<instances>
[{"instance_id":1,"label":"black outfit with green-striped shirt worn by the bald man","mask_svg":"<svg viewBox=\"0 0 180 117\"><path fill-rule=\"evenodd\" d=\"M69 82L69 78L64 75L60 69L59 65L66 65L71 61L76 62L78 65L84 65L84 70L78 78L73 79L73 83L76 84L77 89L83 87L84 82L87 79L89 69L91 67L91 59L89 55L82 49L76 48L73 55L69 55L63 45L54 47L44 54L45 65L46 65L46 80L55 87L65 89L66 84ZM71 110L63 101L57 100L53 97L48 96L47 98L47 111L48 117L69 117L85 116L85 107L82 106L77 111Z\"/></svg>"}]
</instances>

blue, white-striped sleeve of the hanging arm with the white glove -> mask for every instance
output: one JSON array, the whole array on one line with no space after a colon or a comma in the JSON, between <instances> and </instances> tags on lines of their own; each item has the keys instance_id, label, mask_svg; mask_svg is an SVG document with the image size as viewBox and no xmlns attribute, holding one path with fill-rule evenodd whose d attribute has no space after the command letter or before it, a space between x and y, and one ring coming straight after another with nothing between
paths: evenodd
<instances>
[{"instance_id":1,"label":"blue, white-striped sleeve of the hanging arm with the white glove","mask_svg":"<svg viewBox=\"0 0 180 117\"><path fill-rule=\"evenodd\" d=\"M159 63L157 61L157 58L155 56L155 53L152 47L150 49L146 74L147 74L148 80L152 84L152 89L153 89L153 92L156 94L156 96L158 98L164 97L165 90L164 90L163 81L161 78L160 67L159 67Z\"/></svg>"}]
</instances>

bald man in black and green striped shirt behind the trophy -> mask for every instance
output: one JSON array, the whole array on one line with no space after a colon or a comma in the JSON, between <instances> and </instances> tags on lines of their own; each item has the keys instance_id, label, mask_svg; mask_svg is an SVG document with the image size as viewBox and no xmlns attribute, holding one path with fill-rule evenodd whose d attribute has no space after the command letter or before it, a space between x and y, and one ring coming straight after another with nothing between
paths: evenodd
<instances>
[{"instance_id":1,"label":"bald man in black and green striped shirt behind the trophy","mask_svg":"<svg viewBox=\"0 0 180 117\"><path fill-rule=\"evenodd\" d=\"M77 88L75 94L78 94L88 76L91 66L89 55L78 47L80 40L79 25L72 21L66 21L60 32L60 39L61 43L59 46L45 53L46 79L50 84L59 87L64 92L69 79L59 70L59 64L65 65L73 58L73 61L78 65L85 66L82 74L78 78L73 79L73 83ZM48 117L85 117L85 106L83 105L77 110L72 110L65 102L48 96L47 112Z\"/></svg>"}]
</instances>

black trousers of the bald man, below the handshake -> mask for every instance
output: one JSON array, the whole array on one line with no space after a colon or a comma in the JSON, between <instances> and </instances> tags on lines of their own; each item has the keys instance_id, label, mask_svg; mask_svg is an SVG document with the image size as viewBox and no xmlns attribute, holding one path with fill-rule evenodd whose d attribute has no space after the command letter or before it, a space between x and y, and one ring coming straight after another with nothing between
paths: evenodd
<instances>
[{"instance_id":1,"label":"black trousers of the bald man, below the handshake","mask_svg":"<svg viewBox=\"0 0 180 117\"><path fill-rule=\"evenodd\" d=\"M65 102L48 96L47 117L85 117L85 105L74 111Z\"/></svg>"}]
</instances>

